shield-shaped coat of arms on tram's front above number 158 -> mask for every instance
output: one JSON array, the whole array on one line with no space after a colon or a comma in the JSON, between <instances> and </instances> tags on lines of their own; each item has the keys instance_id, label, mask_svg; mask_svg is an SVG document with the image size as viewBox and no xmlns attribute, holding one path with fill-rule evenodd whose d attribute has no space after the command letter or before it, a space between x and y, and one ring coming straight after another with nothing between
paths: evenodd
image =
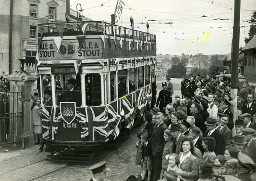
<instances>
[{"instance_id":1,"label":"shield-shaped coat of arms on tram's front above number 158","mask_svg":"<svg viewBox=\"0 0 256 181\"><path fill-rule=\"evenodd\" d=\"M75 102L60 102L61 107L61 117L63 120L71 124L76 116Z\"/></svg>"}]
</instances>

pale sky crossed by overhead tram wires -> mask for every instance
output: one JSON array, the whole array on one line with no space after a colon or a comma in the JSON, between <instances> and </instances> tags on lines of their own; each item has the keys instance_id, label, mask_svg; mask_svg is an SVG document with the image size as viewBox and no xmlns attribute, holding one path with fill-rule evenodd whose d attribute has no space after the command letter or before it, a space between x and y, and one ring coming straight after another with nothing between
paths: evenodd
<instances>
[{"instance_id":1,"label":"pale sky crossed by overhead tram wires","mask_svg":"<svg viewBox=\"0 0 256 181\"><path fill-rule=\"evenodd\" d=\"M117 24L134 27L157 36L157 53L181 55L228 54L232 47L234 0L123 0L125 6ZM92 20L111 21L117 0L70 0L73 10L82 5L83 14ZM103 5L103 6L101 6ZM79 9L79 8L78 8ZM255 0L241 0L240 45L248 37ZM206 17L202 17L206 16Z\"/></svg>"}]
</instances>

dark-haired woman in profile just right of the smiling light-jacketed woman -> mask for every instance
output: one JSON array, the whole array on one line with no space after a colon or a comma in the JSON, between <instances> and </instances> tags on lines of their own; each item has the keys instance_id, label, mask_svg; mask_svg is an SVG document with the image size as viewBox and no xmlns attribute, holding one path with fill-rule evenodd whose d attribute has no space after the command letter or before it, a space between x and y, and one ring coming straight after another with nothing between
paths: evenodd
<instances>
[{"instance_id":1,"label":"dark-haired woman in profile just right of the smiling light-jacketed woman","mask_svg":"<svg viewBox=\"0 0 256 181\"><path fill-rule=\"evenodd\" d=\"M207 136L203 138L202 141L202 146L203 148L206 150L204 155L203 155L203 159L205 162L209 163L209 164L214 164L215 161L215 139L213 137Z\"/></svg>"}]
</instances>

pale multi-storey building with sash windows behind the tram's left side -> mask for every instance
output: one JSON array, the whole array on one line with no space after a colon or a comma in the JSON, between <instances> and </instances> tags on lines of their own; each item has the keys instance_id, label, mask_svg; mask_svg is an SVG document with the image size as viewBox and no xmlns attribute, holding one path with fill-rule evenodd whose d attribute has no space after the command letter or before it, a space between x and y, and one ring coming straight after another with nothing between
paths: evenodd
<instances>
[{"instance_id":1,"label":"pale multi-storey building with sash windows behind the tram's left side","mask_svg":"<svg viewBox=\"0 0 256 181\"><path fill-rule=\"evenodd\" d=\"M6 74L20 69L19 59L26 59L28 71L36 70L37 24L66 21L67 10L76 21L69 0L6 0L0 9L0 72Z\"/></svg>"}]
</instances>

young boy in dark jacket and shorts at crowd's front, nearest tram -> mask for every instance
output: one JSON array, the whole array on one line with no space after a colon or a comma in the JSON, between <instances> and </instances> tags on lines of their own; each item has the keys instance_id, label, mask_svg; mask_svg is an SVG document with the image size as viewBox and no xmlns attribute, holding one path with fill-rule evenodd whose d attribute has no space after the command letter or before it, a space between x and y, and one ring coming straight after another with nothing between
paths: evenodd
<instances>
[{"instance_id":1,"label":"young boy in dark jacket and shorts at crowd's front, nearest tram","mask_svg":"<svg viewBox=\"0 0 256 181\"><path fill-rule=\"evenodd\" d=\"M147 181L151 179L151 173L153 169L153 162L152 162L152 150L150 142L148 142L148 134L141 135L141 142L142 142L142 160L143 160L143 168L141 173L141 180L145 181L145 175L147 171Z\"/></svg>"}]
</instances>

